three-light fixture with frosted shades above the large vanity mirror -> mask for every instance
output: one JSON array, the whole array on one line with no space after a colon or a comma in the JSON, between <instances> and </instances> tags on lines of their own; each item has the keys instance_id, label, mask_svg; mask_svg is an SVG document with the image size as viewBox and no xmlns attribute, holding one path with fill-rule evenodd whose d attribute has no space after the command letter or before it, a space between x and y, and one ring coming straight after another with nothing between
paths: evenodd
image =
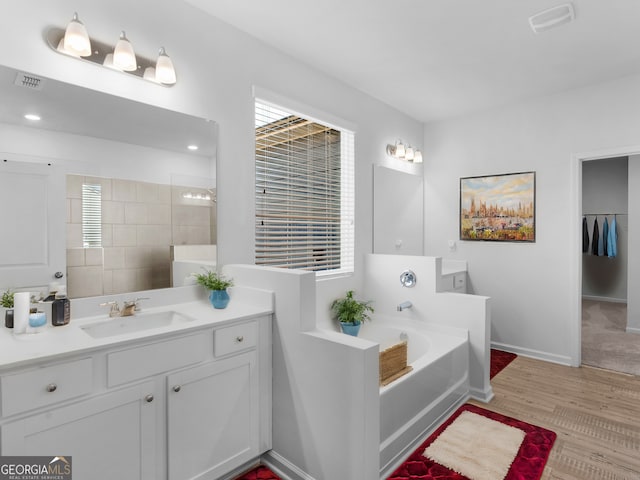
<instances>
[{"instance_id":1,"label":"three-light fixture with frosted shades above the large vanity mirror","mask_svg":"<svg viewBox=\"0 0 640 480\"><path fill-rule=\"evenodd\" d=\"M77 13L73 14L65 30L50 28L46 39L49 47L58 53L135 75L158 85L176 83L176 71L164 47L160 48L156 60L150 60L135 54L124 31L115 47L91 39Z\"/></svg>"}]
</instances>

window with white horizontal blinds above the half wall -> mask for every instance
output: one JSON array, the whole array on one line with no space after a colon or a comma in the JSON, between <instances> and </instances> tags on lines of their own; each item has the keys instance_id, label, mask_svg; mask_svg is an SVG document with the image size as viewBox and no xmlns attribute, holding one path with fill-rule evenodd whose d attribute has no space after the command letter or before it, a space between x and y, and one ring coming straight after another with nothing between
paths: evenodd
<instances>
[{"instance_id":1,"label":"window with white horizontal blinds above the half wall","mask_svg":"<svg viewBox=\"0 0 640 480\"><path fill-rule=\"evenodd\" d=\"M353 272L354 135L256 101L256 264Z\"/></svg>"}]
</instances>

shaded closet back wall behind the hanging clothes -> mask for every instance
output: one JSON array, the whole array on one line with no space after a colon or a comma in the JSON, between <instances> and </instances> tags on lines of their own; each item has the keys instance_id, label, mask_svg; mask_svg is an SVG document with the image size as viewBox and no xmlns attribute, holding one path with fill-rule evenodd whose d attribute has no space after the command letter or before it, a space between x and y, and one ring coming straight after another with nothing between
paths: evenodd
<instances>
[{"instance_id":1,"label":"shaded closet back wall behind the hanging clothes","mask_svg":"<svg viewBox=\"0 0 640 480\"><path fill-rule=\"evenodd\" d=\"M582 256L583 298L614 302L627 301L628 165L627 157L592 160L582 164L582 211L587 219L590 241L588 253ZM611 226L614 214L618 232L616 257L593 255L591 247L596 218L600 241L602 241L605 217Z\"/></svg>"}]
</instances>

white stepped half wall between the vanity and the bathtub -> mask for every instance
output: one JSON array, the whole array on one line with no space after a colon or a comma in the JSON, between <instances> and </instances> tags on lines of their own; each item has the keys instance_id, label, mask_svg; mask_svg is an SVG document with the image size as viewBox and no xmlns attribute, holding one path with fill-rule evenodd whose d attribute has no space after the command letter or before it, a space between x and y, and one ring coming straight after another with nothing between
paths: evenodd
<instances>
[{"instance_id":1,"label":"white stepped half wall between the vanity and the bathtub","mask_svg":"<svg viewBox=\"0 0 640 480\"><path fill-rule=\"evenodd\" d=\"M292 478L378 478L378 345L315 328L313 273L246 265L224 273L275 293L268 461Z\"/></svg>"}]
</instances>

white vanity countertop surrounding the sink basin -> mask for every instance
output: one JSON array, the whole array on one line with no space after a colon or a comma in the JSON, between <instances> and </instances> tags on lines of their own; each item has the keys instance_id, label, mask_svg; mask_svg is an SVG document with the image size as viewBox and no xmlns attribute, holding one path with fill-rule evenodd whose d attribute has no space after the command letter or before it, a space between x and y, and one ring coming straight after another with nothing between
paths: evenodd
<instances>
[{"instance_id":1,"label":"white vanity countertop surrounding the sink basin","mask_svg":"<svg viewBox=\"0 0 640 480\"><path fill-rule=\"evenodd\" d=\"M0 372L17 366L55 359L55 357L76 355L119 344L125 345L133 341L171 337L178 332L187 333L192 330L196 331L211 327L212 325L251 319L273 313L272 293L251 290L235 289L234 294L231 296L231 301L225 309L214 309L208 299L144 308L139 315L173 311L188 317L189 320L103 338L90 336L82 327L97 322L133 320L135 316L109 318L108 313L105 312L96 316L74 318L72 306L71 321L64 326L54 327L49 322L38 333L20 335L14 335L12 329L0 328Z\"/></svg>"}]
</instances>

